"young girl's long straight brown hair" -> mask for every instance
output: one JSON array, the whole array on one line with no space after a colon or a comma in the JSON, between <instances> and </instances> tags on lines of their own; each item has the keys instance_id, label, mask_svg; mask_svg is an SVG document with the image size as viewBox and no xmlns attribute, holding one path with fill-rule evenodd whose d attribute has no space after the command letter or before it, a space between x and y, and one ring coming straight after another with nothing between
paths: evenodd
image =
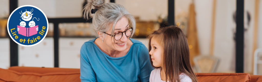
<instances>
[{"instance_id":1,"label":"young girl's long straight brown hair","mask_svg":"<svg viewBox=\"0 0 262 82\"><path fill-rule=\"evenodd\" d=\"M189 59L189 48L183 31L176 26L169 26L153 31L148 35L148 49L151 51L151 39L154 37L163 48L163 61L166 80L180 82L179 72L187 74L192 82L198 82ZM149 55L151 65L155 67Z\"/></svg>"}]
</instances>

